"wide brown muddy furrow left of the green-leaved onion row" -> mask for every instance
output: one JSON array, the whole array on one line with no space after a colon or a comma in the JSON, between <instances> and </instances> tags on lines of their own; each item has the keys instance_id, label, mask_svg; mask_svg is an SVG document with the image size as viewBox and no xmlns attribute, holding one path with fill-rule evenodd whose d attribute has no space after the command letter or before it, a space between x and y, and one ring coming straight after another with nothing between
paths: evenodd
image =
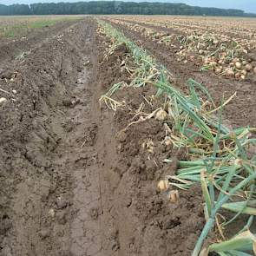
<instances>
[{"instance_id":1,"label":"wide brown muddy furrow left of the green-leaved onion row","mask_svg":"<svg viewBox=\"0 0 256 256\"><path fill-rule=\"evenodd\" d=\"M87 18L0 80L0 255L140 255L137 178L125 174L113 113L98 102L102 84L120 79L103 51Z\"/></svg>"}]
</instances>

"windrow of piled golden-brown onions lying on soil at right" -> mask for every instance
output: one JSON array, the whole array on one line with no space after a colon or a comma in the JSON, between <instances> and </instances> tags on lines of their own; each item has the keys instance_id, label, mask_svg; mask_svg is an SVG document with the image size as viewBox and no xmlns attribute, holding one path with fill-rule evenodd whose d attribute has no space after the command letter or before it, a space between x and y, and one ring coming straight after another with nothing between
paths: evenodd
<instances>
[{"instance_id":1,"label":"windrow of piled golden-brown onions lying on soil at right","mask_svg":"<svg viewBox=\"0 0 256 256\"><path fill-rule=\"evenodd\" d=\"M182 31L170 28L171 31L168 32L167 29L159 28L159 31L126 20L110 18L109 21L140 32L154 42L164 43L176 53L178 62L194 62L200 67L200 71L212 70L216 75L240 81L256 77L256 62L250 56L255 50L254 40L240 40L201 30Z\"/></svg>"}]
</instances>

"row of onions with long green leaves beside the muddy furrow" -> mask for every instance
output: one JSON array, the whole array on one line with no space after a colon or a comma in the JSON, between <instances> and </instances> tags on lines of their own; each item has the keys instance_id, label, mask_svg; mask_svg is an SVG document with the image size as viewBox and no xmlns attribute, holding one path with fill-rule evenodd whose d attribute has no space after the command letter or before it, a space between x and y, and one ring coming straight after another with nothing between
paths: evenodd
<instances>
[{"instance_id":1,"label":"row of onions with long green leaves beside the muddy furrow","mask_svg":"<svg viewBox=\"0 0 256 256\"><path fill-rule=\"evenodd\" d=\"M241 214L245 214L248 221L246 226L240 226L239 235L231 240L223 238L220 243L213 243L211 246L203 247L202 250L220 255L228 255L226 254L228 252L239 253L241 250L253 252L255 236L249 232L249 228L255 215L256 174L255 157L250 152L255 149L255 140L252 137L255 129L232 129L222 125L222 110L232 98L223 101L220 107L216 107L207 90L193 80L188 82L190 95L183 95L172 86L170 73L158 65L153 56L148 55L108 23L102 21L99 23L99 32L109 36L112 41L108 55L111 55L118 45L124 43L135 62L135 67L132 68L129 67L128 62L122 62L124 69L131 74L132 81L121 81L113 85L105 95L102 95L101 102L105 102L108 108L113 110L125 109L126 102L115 98L118 90L146 86L158 89L158 93L148 100L148 104L154 105L156 100L161 102L161 107L128 124L128 127L154 118L161 121L165 128L166 137L162 143L173 148L186 149L187 160L179 161L176 174L167 175L166 179L158 184L171 202L178 200L175 187L188 189L196 183L200 183L202 187L206 225L194 247L193 255L199 255L215 223L218 224L222 234L224 226L237 220ZM201 99L199 92L205 95L207 101ZM218 117L215 113L218 113ZM143 147L148 150L150 157L154 149L152 141L145 142ZM172 159L164 160L167 165L172 161ZM233 212L234 216L228 219L228 216L231 216L229 213L221 222L222 209Z\"/></svg>"}]
</instances>

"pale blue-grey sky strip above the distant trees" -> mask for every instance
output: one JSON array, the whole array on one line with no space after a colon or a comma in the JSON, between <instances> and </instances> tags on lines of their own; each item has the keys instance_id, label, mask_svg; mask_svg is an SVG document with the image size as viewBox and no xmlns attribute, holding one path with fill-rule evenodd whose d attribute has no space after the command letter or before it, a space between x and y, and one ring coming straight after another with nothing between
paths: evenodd
<instances>
[{"instance_id":1,"label":"pale blue-grey sky strip above the distant trees","mask_svg":"<svg viewBox=\"0 0 256 256\"><path fill-rule=\"evenodd\" d=\"M82 0L0 0L3 4L12 3L57 3L57 2L79 2ZM125 0L124 0L125 1ZM233 8L246 10L256 13L256 0L129 0L134 2L168 2L168 3L187 3L190 5Z\"/></svg>"}]
</instances>

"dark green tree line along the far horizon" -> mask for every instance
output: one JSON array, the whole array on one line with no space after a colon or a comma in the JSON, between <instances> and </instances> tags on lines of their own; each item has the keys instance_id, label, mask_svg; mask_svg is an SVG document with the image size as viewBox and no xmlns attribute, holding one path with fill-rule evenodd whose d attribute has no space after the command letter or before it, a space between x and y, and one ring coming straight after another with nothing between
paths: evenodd
<instances>
[{"instance_id":1,"label":"dark green tree line along the far horizon","mask_svg":"<svg viewBox=\"0 0 256 256\"><path fill-rule=\"evenodd\" d=\"M77 3L0 4L0 15L140 14L197 16L256 16L243 10L190 6L185 3L91 1Z\"/></svg>"}]
</instances>

